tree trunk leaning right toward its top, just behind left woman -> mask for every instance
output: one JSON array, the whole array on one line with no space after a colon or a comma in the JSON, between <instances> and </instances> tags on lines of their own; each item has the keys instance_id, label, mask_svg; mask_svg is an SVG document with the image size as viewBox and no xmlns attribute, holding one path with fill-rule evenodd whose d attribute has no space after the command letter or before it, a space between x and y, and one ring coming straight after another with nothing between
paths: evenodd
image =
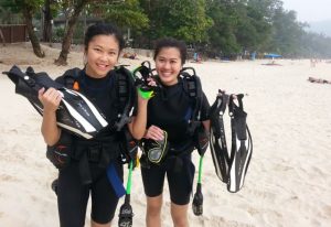
<instances>
[{"instance_id":1,"label":"tree trunk leaning right toward its top, just behind left woman","mask_svg":"<svg viewBox=\"0 0 331 227\"><path fill-rule=\"evenodd\" d=\"M62 50L61 50L60 56L54 62L55 65L67 65L66 60L67 60L67 55L70 53L70 47L72 44L75 25L76 25L76 22L78 20L81 12L83 11L83 9L87 2L88 2L88 0L83 0L77 6L75 6L74 12L70 17L70 20L68 20L68 23L66 26L66 31L65 31L65 35L62 41Z\"/></svg>"}]
</instances>

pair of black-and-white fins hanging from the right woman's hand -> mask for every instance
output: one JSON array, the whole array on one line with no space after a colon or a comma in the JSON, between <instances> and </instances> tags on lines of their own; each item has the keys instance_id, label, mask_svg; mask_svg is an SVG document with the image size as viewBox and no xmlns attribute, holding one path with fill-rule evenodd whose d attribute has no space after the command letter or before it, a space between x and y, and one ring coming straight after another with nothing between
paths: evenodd
<instances>
[{"instance_id":1,"label":"pair of black-and-white fins hanging from the right woman's hand","mask_svg":"<svg viewBox=\"0 0 331 227\"><path fill-rule=\"evenodd\" d=\"M246 123L247 114L244 111L243 97L243 94L226 95L220 90L210 111L210 144L215 172L221 181L227 184L227 191L232 193L236 193L243 187L253 153L253 141ZM238 105L235 104L235 100ZM227 106L232 132L229 153L223 120Z\"/></svg>"}]
</instances>

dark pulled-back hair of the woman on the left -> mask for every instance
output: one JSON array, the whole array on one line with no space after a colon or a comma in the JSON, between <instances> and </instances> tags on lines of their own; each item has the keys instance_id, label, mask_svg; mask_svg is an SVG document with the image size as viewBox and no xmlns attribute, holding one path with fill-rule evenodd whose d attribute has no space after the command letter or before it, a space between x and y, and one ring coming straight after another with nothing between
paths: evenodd
<instances>
[{"instance_id":1,"label":"dark pulled-back hair of the woman on the left","mask_svg":"<svg viewBox=\"0 0 331 227\"><path fill-rule=\"evenodd\" d=\"M84 45L85 50L88 47L88 43L96 35L114 35L118 42L119 52L125 47L125 41L121 32L118 28L109 23L95 23L87 28L85 32Z\"/></svg>"}]
</instances>

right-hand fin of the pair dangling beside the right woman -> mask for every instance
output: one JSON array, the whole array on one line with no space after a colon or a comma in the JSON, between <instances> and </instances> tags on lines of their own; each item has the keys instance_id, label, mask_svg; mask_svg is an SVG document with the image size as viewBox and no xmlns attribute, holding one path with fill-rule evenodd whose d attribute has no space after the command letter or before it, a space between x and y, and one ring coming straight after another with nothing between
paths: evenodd
<instances>
[{"instance_id":1,"label":"right-hand fin of the pair dangling beside the right woman","mask_svg":"<svg viewBox=\"0 0 331 227\"><path fill-rule=\"evenodd\" d=\"M237 106L232 95L228 104L232 149L227 190L232 193L236 193L243 187L253 152L253 141L246 123L247 114L244 111L243 97L244 95L242 94L236 95L236 99L238 100Z\"/></svg>"}]
</instances>

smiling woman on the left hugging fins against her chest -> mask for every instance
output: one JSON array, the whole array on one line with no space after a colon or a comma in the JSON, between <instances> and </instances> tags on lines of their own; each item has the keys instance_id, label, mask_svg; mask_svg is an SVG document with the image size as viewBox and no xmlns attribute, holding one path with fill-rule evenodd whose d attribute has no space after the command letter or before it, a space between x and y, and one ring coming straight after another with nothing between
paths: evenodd
<instances>
[{"instance_id":1,"label":"smiling woman on the left hugging fins against her chest","mask_svg":"<svg viewBox=\"0 0 331 227\"><path fill-rule=\"evenodd\" d=\"M124 141L122 133L132 133L139 139L145 130L134 127L139 123L139 114L137 120L132 117L127 125L137 96L130 73L124 67L115 68L122 48L124 39L117 28L106 23L93 24L85 34L85 67L68 69L56 78L61 85L84 94L104 114L108 126L95 137L87 140L60 129L56 121L61 96L52 87L39 90L44 110L44 140L49 148L54 148L53 153L60 153L63 147L67 151L68 161L58 167L57 186L54 186L61 226L84 226L87 201L92 195L90 226L110 227L118 199L125 194L122 154L127 154L127 150L122 147L127 141ZM138 102L138 108L141 102ZM131 156L135 155L132 150ZM126 161L134 159L130 158Z\"/></svg>"}]
</instances>

